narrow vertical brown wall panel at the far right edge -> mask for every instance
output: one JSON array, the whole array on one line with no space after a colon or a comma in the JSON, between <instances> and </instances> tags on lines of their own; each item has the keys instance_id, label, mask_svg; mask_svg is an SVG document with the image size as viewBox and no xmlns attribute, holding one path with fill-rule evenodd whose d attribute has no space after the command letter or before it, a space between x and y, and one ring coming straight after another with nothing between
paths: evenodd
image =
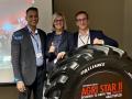
<instances>
[{"instance_id":1,"label":"narrow vertical brown wall panel at the far right edge","mask_svg":"<svg viewBox=\"0 0 132 99\"><path fill-rule=\"evenodd\" d=\"M132 0L125 0L124 3L123 46L132 57Z\"/></svg>"}]
</instances>

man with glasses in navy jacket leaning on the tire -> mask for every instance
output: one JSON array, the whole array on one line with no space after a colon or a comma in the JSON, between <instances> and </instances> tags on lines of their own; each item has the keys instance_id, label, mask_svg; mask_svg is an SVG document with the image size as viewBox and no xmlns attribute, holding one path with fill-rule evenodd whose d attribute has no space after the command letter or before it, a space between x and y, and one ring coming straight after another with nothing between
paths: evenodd
<instances>
[{"instance_id":1,"label":"man with glasses in navy jacket leaning on the tire","mask_svg":"<svg viewBox=\"0 0 132 99\"><path fill-rule=\"evenodd\" d=\"M74 34L75 47L80 47L85 44L105 44L118 47L118 42L106 36L102 31L89 30L89 18L85 11L79 11L75 14L78 32Z\"/></svg>"}]
</instances>

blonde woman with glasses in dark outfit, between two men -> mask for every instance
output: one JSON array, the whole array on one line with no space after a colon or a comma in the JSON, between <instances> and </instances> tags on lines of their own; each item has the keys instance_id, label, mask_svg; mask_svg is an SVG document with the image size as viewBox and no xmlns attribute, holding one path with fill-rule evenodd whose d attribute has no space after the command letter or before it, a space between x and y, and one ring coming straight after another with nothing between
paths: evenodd
<instances>
[{"instance_id":1,"label":"blonde woman with glasses in dark outfit, between two men","mask_svg":"<svg viewBox=\"0 0 132 99\"><path fill-rule=\"evenodd\" d=\"M66 20L62 13L53 14L53 31L47 34L47 72L73 50L73 35L66 31Z\"/></svg>"}]
</instances>

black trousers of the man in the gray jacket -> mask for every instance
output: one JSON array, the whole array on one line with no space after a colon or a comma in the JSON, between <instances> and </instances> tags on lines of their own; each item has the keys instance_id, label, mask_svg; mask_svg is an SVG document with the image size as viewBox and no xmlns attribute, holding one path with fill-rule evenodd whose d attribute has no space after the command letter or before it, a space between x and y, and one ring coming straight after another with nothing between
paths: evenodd
<instances>
[{"instance_id":1,"label":"black trousers of the man in the gray jacket","mask_svg":"<svg viewBox=\"0 0 132 99\"><path fill-rule=\"evenodd\" d=\"M43 99L44 80L44 68L37 67L35 81L31 86L25 86L26 90L24 92L19 92L19 99L31 99L32 92L34 99Z\"/></svg>"}]
</instances>

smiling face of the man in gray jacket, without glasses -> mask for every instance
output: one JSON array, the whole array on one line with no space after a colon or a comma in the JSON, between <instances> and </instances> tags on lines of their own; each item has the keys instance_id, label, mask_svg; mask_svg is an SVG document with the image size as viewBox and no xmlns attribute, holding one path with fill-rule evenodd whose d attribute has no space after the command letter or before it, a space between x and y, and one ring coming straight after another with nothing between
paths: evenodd
<instances>
[{"instance_id":1,"label":"smiling face of the man in gray jacket, without glasses","mask_svg":"<svg viewBox=\"0 0 132 99\"><path fill-rule=\"evenodd\" d=\"M31 28L36 28L36 24L38 23L38 13L37 11L34 10L30 10L26 13L26 21L28 21L28 25Z\"/></svg>"}]
</instances>

